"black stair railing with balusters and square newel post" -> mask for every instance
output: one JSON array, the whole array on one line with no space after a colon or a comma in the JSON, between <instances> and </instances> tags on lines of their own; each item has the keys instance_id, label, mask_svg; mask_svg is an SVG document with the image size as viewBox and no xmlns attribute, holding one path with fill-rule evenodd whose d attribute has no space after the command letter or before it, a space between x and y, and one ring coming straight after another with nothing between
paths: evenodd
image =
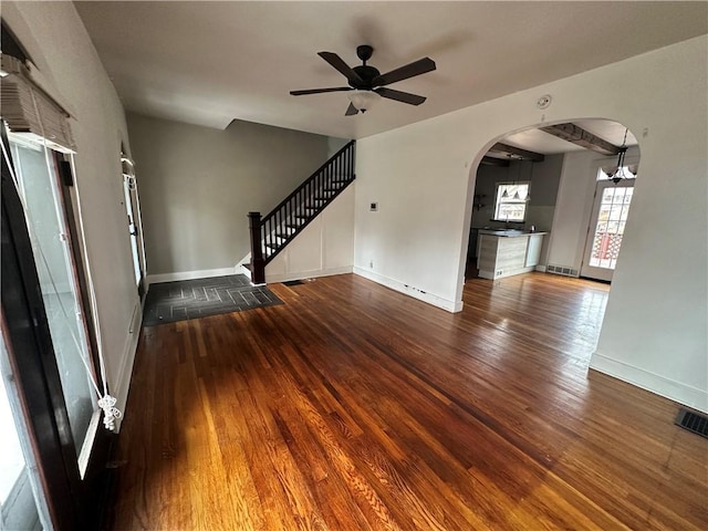
<instances>
[{"instance_id":1,"label":"black stair railing with balusters and square newel post","mask_svg":"<svg viewBox=\"0 0 708 531\"><path fill-rule=\"evenodd\" d=\"M251 281L266 282L266 266L355 178L354 140L340 149L273 210L249 212Z\"/></svg>"}]
</instances>

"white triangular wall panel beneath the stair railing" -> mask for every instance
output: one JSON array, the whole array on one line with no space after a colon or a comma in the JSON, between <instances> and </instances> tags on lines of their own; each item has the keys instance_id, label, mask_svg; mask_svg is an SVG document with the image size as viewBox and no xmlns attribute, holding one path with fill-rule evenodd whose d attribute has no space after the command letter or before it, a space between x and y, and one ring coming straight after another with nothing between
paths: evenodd
<instances>
[{"instance_id":1,"label":"white triangular wall panel beneath the stair railing","mask_svg":"<svg viewBox=\"0 0 708 531\"><path fill-rule=\"evenodd\" d=\"M355 187L342 191L266 266L267 282L352 272Z\"/></svg>"}]
</instances>

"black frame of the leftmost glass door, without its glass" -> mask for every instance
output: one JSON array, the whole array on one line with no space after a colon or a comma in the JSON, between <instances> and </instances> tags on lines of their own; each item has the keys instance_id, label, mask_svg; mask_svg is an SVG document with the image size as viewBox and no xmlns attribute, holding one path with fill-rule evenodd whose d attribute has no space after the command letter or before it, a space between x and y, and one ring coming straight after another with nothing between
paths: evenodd
<instances>
[{"instance_id":1,"label":"black frame of the leftmost glass door, without its glass","mask_svg":"<svg viewBox=\"0 0 708 531\"><path fill-rule=\"evenodd\" d=\"M116 436L98 427L82 478L4 125L1 133L2 336L52 524L56 531L95 529L111 476L105 464Z\"/></svg>"}]
</instances>

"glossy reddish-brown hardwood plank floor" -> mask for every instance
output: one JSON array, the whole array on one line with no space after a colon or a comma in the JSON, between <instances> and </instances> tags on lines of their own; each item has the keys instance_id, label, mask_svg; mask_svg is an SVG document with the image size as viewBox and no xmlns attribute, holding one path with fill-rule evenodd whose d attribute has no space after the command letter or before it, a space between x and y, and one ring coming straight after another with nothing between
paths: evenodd
<instances>
[{"instance_id":1,"label":"glossy reddish-brown hardwood plank floor","mask_svg":"<svg viewBox=\"0 0 708 531\"><path fill-rule=\"evenodd\" d=\"M608 287L475 279L459 314L270 288L143 331L111 529L708 529L708 440L587 371Z\"/></svg>"}]
</instances>

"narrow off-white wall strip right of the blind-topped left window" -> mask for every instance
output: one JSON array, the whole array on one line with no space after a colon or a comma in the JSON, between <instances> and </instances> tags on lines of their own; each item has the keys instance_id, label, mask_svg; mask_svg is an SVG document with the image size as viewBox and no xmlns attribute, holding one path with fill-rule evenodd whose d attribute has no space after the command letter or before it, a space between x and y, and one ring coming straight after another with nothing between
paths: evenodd
<instances>
[{"instance_id":1,"label":"narrow off-white wall strip right of the blind-topped left window","mask_svg":"<svg viewBox=\"0 0 708 531\"><path fill-rule=\"evenodd\" d=\"M75 183L107 379L124 408L139 323L126 210L121 142L128 148L123 107L71 2L2 2L2 18L53 95L73 113ZM134 317L134 312L137 315Z\"/></svg>"}]
</instances>

